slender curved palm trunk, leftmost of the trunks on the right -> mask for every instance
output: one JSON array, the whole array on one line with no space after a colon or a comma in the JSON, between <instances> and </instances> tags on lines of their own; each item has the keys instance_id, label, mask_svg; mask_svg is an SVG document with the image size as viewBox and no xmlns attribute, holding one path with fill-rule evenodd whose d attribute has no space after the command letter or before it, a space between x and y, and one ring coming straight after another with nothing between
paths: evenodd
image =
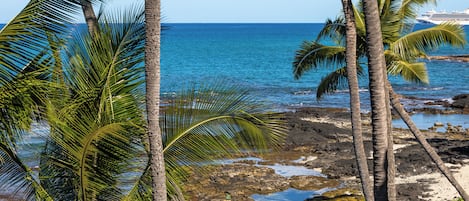
<instances>
[{"instance_id":1,"label":"slender curved palm trunk, leftmost of the trunks on the right","mask_svg":"<svg viewBox=\"0 0 469 201\"><path fill-rule=\"evenodd\" d=\"M358 171L362 183L362 190L366 200L373 200L373 188L371 185L365 148L363 145L362 123L360 116L360 94L357 78L357 29L355 16L352 10L351 0L342 0L342 6L346 20L346 47L347 47L347 80L350 91L350 110L352 120L353 145L357 158Z\"/></svg>"}]
</instances>

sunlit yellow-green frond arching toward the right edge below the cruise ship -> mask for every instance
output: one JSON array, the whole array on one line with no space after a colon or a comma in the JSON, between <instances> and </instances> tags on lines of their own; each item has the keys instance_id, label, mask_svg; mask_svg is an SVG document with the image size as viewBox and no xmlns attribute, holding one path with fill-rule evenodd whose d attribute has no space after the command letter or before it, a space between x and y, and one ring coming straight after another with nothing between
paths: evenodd
<instances>
[{"instance_id":1,"label":"sunlit yellow-green frond arching toward the right edge below the cruise ship","mask_svg":"<svg viewBox=\"0 0 469 201\"><path fill-rule=\"evenodd\" d=\"M416 54L434 50L442 45L463 47L465 44L465 32L462 27L445 23L402 36L393 42L389 49L401 58L413 59Z\"/></svg>"}]
</instances>

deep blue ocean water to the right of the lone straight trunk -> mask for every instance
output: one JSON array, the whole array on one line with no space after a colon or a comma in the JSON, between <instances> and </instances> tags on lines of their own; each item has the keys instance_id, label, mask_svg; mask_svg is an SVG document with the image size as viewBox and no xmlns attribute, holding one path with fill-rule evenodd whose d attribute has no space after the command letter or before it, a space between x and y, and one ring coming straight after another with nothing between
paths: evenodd
<instances>
[{"instance_id":1,"label":"deep blue ocean water to the right of the lone straight trunk","mask_svg":"<svg viewBox=\"0 0 469 201\"><path fill-rule=\"evenodd\" d=\"M416 25L416 29L428 25ZM225 80L246 87L273 109L298 106L348 107L348 91L316 99L316 86L331 72L324 66L295 80L292 62L305 40L315 40L323 24L166 24L162 36L162 92L173 93L187 83ZM469 33L469 27L465 27ZM442 47L429 55L469 54L468 48ZM451 99L469 93L469 63L425 61L430 84L390 77L395 91L420 102ZM360 80L362 110L369 109L367 79ZM403 100L406 102L406 100Z\"/></svg>"}]
</instances>

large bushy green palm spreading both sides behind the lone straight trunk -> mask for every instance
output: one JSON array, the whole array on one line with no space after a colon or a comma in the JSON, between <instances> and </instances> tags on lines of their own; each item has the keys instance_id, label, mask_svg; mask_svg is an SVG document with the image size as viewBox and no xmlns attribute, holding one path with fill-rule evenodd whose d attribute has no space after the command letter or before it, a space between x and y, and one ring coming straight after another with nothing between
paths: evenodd
<instances>
[{"instance_id":1,"label":"large bushy green palm spreading both sides behind the lone straight trunk","mask_svg":"<svg viewBox=\"0 0 469 201\"><path fill-rule=\"evenodd\" d=\"M2 93L0 102L12 106L22 104L15 100L18 96L10 97L21 94L15 90L25 88L18 86L36 86L31 77L37 78L45 89L54 86L56 90L38 92L44 95L40 97L44 104L42 113L50 126L39 169L32 170L24 163L12 145L17 136L3 135L8 130L2 127L0 189L15 189L0 193L17 192L22 195L20 199L27 200L152 197L142 94L145 52L142 11L135 9L122 17L103 17L97 35L75 34L65 49L60 48L63 45L60 38L45 38L54 47L48 48L48 55L55 58L33 58L29 64L34 65L25 68L30 74L25 73L24 79L12 78L2 86L12 92ZM41 66L49 69L38 71ZM218 88L190 90L165 106L159 123L164 128L161 153L165 154L168 175L164 183L169 184L165 194L171 198L183 199L180 184L186 178L188 166L246 150L279 147L285 137L280 115L266 113L245 91L215 86ZM8 99L13 103L8 103ZM11 116L18 119L27 114L29 111ZM18 122L5 125L11 123L19 133L21 126L29 126L32 121L30 117L25 119L24 123L18 121L21 125Z\"/></svg>"}]
</instances>

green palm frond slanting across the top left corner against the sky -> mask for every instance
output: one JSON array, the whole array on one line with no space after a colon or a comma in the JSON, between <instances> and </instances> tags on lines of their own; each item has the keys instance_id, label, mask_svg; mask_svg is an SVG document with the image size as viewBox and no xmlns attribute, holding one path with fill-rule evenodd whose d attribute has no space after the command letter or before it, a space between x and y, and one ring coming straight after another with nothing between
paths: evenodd
<instances>
[{"instance_id":1,"label":"green palm frond slanting across the top left corner against the sky","mask_svg":"<svg viewBox=\"0 0 469 201\"><path fill-rule=\"evenodd\" d=\"M78 5L69 0L32 0L0 30L0 85L48 48L46 32L67 33Z\"/></svg>"}]
</instances>

